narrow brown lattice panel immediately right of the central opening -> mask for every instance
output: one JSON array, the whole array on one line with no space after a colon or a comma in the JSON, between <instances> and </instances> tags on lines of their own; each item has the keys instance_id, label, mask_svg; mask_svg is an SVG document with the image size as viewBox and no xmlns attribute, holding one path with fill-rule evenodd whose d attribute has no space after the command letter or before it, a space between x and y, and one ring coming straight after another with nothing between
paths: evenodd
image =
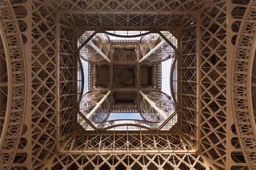
<instances>
[{"instance_id":1,"label":"narrow brown lattice panel immediately right of the central opening","mask_svg":"<svg viewBox=\"0 0 256 170\"><path fill-rule=\"evenodd\" d=\"M182 30L181 67L181 113L184 135L196 139L196 26L188 26Z\"/></svg>"}]
</instances>

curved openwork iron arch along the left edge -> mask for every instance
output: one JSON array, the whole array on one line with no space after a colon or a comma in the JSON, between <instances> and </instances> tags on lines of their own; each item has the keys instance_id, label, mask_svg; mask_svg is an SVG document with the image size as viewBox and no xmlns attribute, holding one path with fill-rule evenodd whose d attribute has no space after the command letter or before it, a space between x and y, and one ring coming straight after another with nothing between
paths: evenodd
<instances>
[{"instance_id":1,"label":"curved openwork iron arch along the left edge","mask_svg":"<svg viewBox=\"0 0 256 170\"><path fill-rule=\"evenodd\" d=\"M0 33L4 42L8 74L6 120L0 138L0 169L11 169L25 113L25 64L23 42L11 1L0 1L0 11Z\"/></svg>"}]
</instances>

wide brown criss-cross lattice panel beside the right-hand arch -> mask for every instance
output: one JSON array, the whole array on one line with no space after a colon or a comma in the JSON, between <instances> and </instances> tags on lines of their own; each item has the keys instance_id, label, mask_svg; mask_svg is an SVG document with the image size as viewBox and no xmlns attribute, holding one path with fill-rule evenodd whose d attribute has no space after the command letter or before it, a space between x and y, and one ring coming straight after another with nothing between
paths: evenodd
<instances>
[{"instance_id":1,"label":"wide brown criss-cross lattice panel beside the right-hand arch","mask_svg":"<svg viewBox=\"0 0 256 170\"><path fill-rule=\"evenodd\" d=\"M218 169L226 162L227 11L216 1L201 15L201 152Z\"/></svg>"}]
</instances>

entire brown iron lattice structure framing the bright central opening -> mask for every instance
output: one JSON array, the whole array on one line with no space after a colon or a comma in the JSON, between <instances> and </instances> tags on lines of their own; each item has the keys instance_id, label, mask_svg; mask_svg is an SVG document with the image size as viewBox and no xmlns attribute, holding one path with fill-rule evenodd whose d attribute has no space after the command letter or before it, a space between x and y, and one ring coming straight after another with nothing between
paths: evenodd
<instances>
[{"instance_id":1,"label":"entire brown iron lattice structure framing the bright central opening","mask_svg":"<svg viewBox=\"0 0 256 170\"><path fill-rule=\"evenodd\" d=\"M0 0L0 169L256 169L255 11L255 0ZM87 30L176 36L175 133L81 128L77 40ZM108 91L95 89L93 68L112 60L110 42L100 39L87 51L95 57L85 57L91 62L87 114ZM150 45L140 43L138 60L157 43ZM161 103L168 97L159 89L159 61L168 57L142 62L158 63L158 91L140 94L166 113L172 103ZM95 111L105 113L102 120L112 109L108 95ZM144 99L138 97L138 107L156 113Z\"/></svg>"}]
</instances>

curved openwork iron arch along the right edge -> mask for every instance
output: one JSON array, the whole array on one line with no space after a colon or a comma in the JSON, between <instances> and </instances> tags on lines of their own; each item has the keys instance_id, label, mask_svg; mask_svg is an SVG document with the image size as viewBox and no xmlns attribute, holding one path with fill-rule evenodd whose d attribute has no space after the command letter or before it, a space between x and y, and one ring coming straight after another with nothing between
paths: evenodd
<instances>
[{"instance_id":1,"label":"curved openwork iron arch along the right edge","mask_svg":"<svg viewBox=\"0 0 256 170\"><path fill-rule=\"evenodd\" d=\"M255 55L256 1L250 1L241 23L233 60L233 109L242 152L249 169L256 169L256 125L252 110L252 60Z\"/></svg>"}]
</instances>

